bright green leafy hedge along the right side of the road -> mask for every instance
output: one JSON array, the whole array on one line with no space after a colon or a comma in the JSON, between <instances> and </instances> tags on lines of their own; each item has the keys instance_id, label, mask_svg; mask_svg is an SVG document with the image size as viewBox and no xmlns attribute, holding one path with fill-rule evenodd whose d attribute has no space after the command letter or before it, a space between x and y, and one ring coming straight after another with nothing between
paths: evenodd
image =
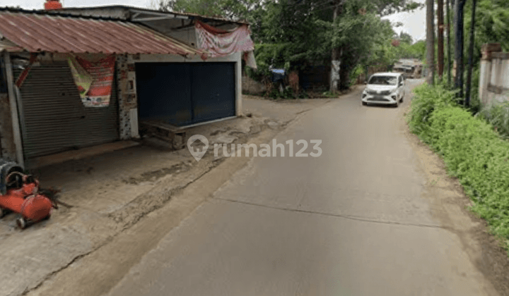
<instances>
[{"instance_id":1,"label":"bright green leafy hedge along the right side of the road","mask_svg":"<svg viewBox=\"0 0 509 296\"><path fill-rule=\"evenodd\" d=\"M424 84L414 92L406 116L411 132L443 158L472 199L471 210L509 250L509 142L484 116L458 105L455 92L443 85Z\"/></svg>"}]
</instances>

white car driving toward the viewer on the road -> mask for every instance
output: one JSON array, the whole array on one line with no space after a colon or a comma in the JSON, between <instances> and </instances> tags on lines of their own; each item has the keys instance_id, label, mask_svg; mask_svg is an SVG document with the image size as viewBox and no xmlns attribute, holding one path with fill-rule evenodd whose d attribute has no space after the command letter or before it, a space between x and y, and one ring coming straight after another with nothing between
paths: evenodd
<instances>
[{"instance_id":1,"label":"white car driving toward the viewer on the road","mask_svg":"<svg viewBox=\"0 0 509 296\"><path fill-rule=\"evenodd\" d=\"M405 82L402 73L375 73L366 83L362 104L387 104L394 107L403 102Z\"/></svg>"}]
</instances>

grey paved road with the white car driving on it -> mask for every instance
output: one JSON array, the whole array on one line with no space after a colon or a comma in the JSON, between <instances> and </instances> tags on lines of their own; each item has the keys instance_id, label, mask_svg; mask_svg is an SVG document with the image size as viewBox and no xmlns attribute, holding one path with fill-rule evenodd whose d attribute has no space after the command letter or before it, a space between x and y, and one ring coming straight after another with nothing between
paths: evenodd
<instances>
[{"instance_id":1,"label":"grey paved road with the white car driving on it","mask_svg":"<svg viewBox=\"0 0 509 296\"><path fill-rule=\"evenodd\" d=\"M110 295L489 295L422 197L401 106L358 96L276 138L322 140L320 157L254 158Z\"/></svg>"}]
</instances>

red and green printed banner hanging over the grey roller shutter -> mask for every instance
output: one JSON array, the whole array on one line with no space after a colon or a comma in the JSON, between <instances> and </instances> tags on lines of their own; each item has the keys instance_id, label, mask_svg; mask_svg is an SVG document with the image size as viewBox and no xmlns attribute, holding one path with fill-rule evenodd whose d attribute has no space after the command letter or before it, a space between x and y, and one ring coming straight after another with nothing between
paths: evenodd
<instances>
[{"instance_id":1,"label":"red and green printed banner hanging over the grey roller shutter","mask_svg":"<svg viewBox=\"0 0 509 296\"><path fill-rule=\"evenodd\" d=\"M115 56L91 62L79 56L67 58L74 83L83 105L86 107L107 107L110 105Z\"/></svg>"}]
</instances>

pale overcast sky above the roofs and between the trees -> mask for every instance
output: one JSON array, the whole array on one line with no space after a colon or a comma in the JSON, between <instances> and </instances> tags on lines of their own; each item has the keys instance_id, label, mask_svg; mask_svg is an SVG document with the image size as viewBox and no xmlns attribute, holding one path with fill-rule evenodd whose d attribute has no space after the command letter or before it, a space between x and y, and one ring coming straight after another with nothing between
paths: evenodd
<instances>
[{"instance_id":1,"label":"pale overcast sky above the roofs and between the trees","mask_svg":"<svg viewBox=\"0 0 509 296\"><path fill-rule=\"evenodd\" d=\"M136 7L148 8L151 0L61 0L64 7L79 7L79 6L104 6L104 5L128 5ZM417 0L423 3L424 0ZM42 9L44 8L45 0L1 0L1 6L21 6L25 9ZM414 42L419 39L426 39L426 8L414 13L397 13L392 16L387 16L392 23L401 22L402 27L396 27L396 32L407 32L414 39Z\"/></svg>"}]
</instances>

